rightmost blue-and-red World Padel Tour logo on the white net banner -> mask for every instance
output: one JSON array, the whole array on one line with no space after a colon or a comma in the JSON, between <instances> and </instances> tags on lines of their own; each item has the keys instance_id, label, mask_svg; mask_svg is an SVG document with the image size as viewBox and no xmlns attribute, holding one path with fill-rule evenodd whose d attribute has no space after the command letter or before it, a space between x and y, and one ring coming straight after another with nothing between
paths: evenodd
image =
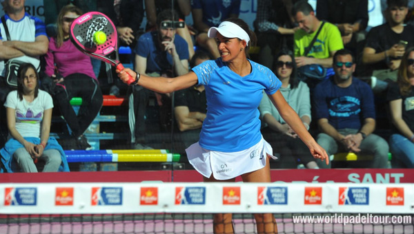
<instances>
[{"instance_id":1,"label":"rightmost blue-and-red World Padel Tour logo on the white net banner","mask_svg":"<svg viewBox=\"0 0 414 234\"><path fill-rule=\"evenodd\" d=\"M369 204L368 187L339 187L339 205Z\"/></svg>"}]
</instances>

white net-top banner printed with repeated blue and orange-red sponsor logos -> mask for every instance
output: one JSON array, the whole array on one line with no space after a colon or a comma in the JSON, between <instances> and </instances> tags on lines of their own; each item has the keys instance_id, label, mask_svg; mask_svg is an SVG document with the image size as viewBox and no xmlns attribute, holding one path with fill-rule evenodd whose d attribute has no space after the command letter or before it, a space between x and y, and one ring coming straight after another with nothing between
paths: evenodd
<instances>
[{"instance_id":1,"label":"white net-top banner printed with repeated blue and orange-red sponsor logos","mask_svg":"<svg viewBox=\"0 0 414 234\"><path fill-rule=\"evenodd\" d=\"M413 213L414 184L5 183L3 214Z\"/></svg>"}]
</instances>

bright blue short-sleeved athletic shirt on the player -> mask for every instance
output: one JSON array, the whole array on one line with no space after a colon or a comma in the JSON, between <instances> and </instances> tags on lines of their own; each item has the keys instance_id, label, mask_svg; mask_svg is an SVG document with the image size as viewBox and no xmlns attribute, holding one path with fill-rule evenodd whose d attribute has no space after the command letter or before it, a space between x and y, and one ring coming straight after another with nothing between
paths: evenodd
<instances>
[{"instance_id":1,"label":"bright blue short-sleeved athletic shirt on the player","mask_svg":"<svg viewBox=\"0 0 414 234\"><path fill-rule=\"evenodd\" d=\"M262 139L259 107L262 91L274 94L282 85L263 65L250 61L252 72L239 76L217 58L193 68L199 85L206 88L207 114L199 145L204 149L235 152Z\"/></svg>"}]
</instances>

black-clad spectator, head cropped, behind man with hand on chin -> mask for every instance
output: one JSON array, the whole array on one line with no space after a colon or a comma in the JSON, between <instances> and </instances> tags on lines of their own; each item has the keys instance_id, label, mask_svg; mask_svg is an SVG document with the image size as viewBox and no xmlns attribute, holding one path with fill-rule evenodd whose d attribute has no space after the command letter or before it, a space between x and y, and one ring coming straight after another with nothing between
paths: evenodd
<instances>
[{"instance_id":1,"label":"black-clad spectator, head cropped, behind man with hand on chin","mask_svg":"<svg viewBox=\"0 0 414 234\"><path fill-rule=\"evenodd\" d=\"M172 5L173 4L173 5ZM157 29L157 14L166 9L174 9L179 16L179 21L184 22L186 16L191 13L191 5L189 0L145 0L145 10L147 16L147 30ZM178 21L178 19L175 19ZM184 28L177 28L177 34L179 34L188 44L188 56L193 58L194 55L194 43L192 34L193 31L188 29L188 25L184 23Z\"/></svg>"}]
</instances>

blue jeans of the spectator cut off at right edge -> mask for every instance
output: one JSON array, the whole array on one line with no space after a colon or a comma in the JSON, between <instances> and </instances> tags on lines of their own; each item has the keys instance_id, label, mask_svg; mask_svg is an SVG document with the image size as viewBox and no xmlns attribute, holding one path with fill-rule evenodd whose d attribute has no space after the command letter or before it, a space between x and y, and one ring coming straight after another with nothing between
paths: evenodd
<instances>
[{"instance_id":1,"label":"blue jeans of the spectator cut off at right edge","mask_svg":"<svg viewBox=\"0 0 414 234\"><path fill-rule=\"evenodd\" d=\"M390 137L390 150L393 157L400 160L408 168L414 168L414 143L400 134Z\"/></svg>"}]
</instances>

